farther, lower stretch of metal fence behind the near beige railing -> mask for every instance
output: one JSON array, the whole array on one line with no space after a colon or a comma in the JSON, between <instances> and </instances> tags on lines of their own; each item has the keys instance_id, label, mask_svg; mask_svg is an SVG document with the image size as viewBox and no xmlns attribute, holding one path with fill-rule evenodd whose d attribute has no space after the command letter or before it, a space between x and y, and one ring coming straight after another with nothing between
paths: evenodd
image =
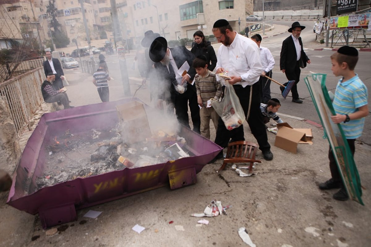
<instances>
[{"instance_id":1,"label":"farther, lower stretch of metal fence behind the near beige railing","mask_svg":"<svg viewBox=\"0 0 371 247\"><path fill-rule=\"evenodd\" d=\"M20 63L0 64L0 83L43 66L43 61L43 58L38 58L21 61Z\"/></svg>"}]
</instances>

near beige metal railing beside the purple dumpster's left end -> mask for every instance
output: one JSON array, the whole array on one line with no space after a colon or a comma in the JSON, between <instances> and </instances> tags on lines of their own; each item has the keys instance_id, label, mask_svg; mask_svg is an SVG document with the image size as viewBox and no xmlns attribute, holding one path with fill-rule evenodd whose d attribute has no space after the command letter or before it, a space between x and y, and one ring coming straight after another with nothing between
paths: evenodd
<instances>
[{"instance_id":1,"label":"near beige metal railing beside the purple dumpster's left end","mask_svg":"<svg viewBox=\"0 0 371 247\"><path fill-rule=\"evenodd\" d=\"M44 69L38 67L0 83L0 97L6 102L18 138L44 101L41 94L44 80Z\"/></svg>"}]
</instances>

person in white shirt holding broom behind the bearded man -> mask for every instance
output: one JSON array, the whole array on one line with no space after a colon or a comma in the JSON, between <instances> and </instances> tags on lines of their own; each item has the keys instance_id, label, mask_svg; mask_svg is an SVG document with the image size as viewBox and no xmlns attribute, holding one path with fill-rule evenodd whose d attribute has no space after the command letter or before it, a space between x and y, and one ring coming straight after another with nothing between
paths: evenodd
<instances>
[{"instance_id":1,"label":"person in white shirt holding broom behind the bearded man","mask_svg":"<svg viewBox=\"0 0 371 247\"><path fill-rule=\"evenodd\" d=\"M275 67L275 59L270 53L270 50L266 47L260 46L262 42L262 36L260 34L254 34L251 39L255 41L260 50L260 60L262 62L262 75L259 78L259 85L261 89L260 103L267 104L270 99L270 80L267 77L272 78L272 70ZM267 76L267 77L264 77Z\"/></svg>"}]
</instances>

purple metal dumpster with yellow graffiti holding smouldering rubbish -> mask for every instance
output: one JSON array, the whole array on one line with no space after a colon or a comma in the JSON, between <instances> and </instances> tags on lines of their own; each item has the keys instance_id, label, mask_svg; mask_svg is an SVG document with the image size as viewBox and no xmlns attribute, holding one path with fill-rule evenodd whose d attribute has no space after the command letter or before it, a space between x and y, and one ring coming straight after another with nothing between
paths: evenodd
<instances>
[{"instance_id":1,"label":"purple metal dumpster with yellow graffiti holding smouldering rubbish","mask_svg":"<svg viewBox=\"0 0 371 247\"><path fill-rule=\"evenodd\" d=\"M134 99L137 100L137 99ZM39 214L44 228L77 220L76 209L170 184L171 189L196 183L196 174L222 149L215 143L181 127L191 157L138 168L125 168L85 178L75 178L38 189L36 180L46 169L47 146L54 136L70 130L79 133L118 123L116 105L91 104L44 114L29 138L13 177L7 203L30 214ZM148 108L148 106L146 106Z\"/></svg>"}]
</instances>

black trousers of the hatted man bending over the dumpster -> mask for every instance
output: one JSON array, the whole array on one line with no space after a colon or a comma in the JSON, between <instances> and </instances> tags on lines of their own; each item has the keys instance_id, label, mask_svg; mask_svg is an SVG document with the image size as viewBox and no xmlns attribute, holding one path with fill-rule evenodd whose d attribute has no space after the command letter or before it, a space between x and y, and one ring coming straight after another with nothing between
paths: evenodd
<instances>
[{"instance_id":1,"label":"black trousers of the hatted man bending over the dumpster","mask_svg":"<svg viewBox=\"0 0 371 247\"><path fill-rule=\"evenodd\" d=\"M188 118L188 105L191 111L193 131L200 134L200 107L198 107L196 86L194 84L188 84L187 91L185 91L183 94L176 93L174 99L175 115L177 116L178 121L190 128Z\"/></svg>"}]
</instances>

